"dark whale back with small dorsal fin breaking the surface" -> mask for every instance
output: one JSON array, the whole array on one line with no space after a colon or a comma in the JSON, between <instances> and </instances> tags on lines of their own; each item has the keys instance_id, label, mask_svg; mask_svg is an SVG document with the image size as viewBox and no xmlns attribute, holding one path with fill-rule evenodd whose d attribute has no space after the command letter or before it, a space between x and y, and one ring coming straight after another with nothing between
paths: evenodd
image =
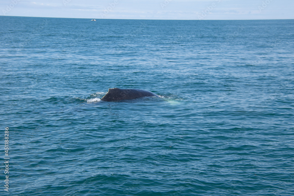
<instances>
[{"instance_id":1,"label":"dark whale back with small dorsal fin breaking the surface","mask_svg":"<svg viewBox=\"0 0 294 196\"><path fill-rule=\"evenodd\" d=\"M124 99L136 99L139 97L158 97L158 95L141 89L109 88L108 93L101 98L102 101L119 101Z\"/></svg>"}]
</instances>

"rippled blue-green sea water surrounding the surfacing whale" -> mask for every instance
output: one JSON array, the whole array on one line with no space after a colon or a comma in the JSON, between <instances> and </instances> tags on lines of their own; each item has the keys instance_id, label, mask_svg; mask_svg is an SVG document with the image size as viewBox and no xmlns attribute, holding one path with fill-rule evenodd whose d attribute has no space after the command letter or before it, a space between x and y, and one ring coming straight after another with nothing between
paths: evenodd
<instances>
[{"instance_id":1,"label":"rippled blue-green sea water surrounding the surfacing whale","mask_svg":"<svg viewBox=\"0 0 294 196\"><path fill-rule=\"evenodd\" d=\"M1 194L294 195L293 29L0 16Z\"/></svg>"}]
</instances>

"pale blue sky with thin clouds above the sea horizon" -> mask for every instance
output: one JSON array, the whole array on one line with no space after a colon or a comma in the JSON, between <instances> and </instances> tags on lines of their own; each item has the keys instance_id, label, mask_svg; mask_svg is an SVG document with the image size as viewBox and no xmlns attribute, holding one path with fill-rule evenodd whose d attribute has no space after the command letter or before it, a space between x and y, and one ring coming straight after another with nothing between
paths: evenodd
<instances>
[{"instance_id":1,"label":"pale blue sky with thin clouds above the sea horizon","mask_svg":"<svg viewBox=\"0 0 294 196\"><path fill-rule=\"evenodd\" d=\"M0 15L87 19L294 19L294 0L0 0Z\"/></svg>"}]
</instances>

